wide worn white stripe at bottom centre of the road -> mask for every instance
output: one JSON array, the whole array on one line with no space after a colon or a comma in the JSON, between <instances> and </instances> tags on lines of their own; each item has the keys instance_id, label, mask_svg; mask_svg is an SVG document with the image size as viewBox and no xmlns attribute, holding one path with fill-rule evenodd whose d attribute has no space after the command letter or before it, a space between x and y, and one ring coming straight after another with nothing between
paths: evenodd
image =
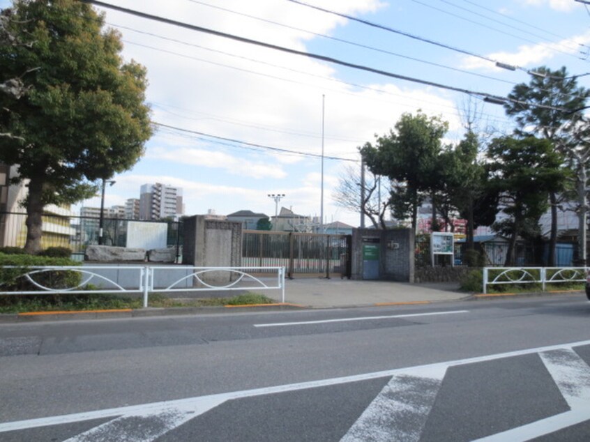
<instances>
[{"instance_id":1,"label":"wide worn white stripe at bottom centre of the road","mask_svg":"<svg viewBox=\"0 0 590 442\"><path fill-rule=\"evenodd\" d=\"M393 376L340 442L419 441L446 368L422 374Z\"/></svg>"}]
</instances>

